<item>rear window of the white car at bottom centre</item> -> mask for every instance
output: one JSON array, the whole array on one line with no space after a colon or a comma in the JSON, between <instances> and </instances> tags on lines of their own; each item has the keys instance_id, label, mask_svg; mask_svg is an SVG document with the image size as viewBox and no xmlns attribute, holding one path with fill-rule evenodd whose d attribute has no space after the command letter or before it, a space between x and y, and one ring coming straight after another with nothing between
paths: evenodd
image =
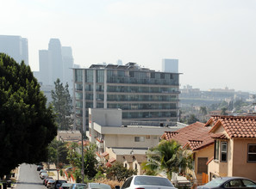
<instances>
[{"instance_id":1,"label":"rear window of the white car at bottom centre","mask_svg":"<svg viewBox=\"0 0 256 189\"><path fill-rule=\"evenodd\" d=\"M134 179L134 185L151 185L151 186L172 186L172 183L161 177L137 176Z\"/></svg>"}]
</instances>

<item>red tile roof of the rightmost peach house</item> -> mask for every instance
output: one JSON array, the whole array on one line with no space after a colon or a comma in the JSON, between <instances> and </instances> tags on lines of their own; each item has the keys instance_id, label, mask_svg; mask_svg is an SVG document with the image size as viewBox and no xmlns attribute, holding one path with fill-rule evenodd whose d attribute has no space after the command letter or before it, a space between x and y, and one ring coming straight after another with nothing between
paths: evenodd
<instances>
[{"instance_id":1,"label":"red tile roof of the rightmost peach house","mask_svg":"<svg viewBox=\"0 0 256 189\"><path fill-rule=\"evenodd\" d=\"M228 137L256 137L256 117L221 116L209 132L222 125Z\"/></svg>"}]
</instances>

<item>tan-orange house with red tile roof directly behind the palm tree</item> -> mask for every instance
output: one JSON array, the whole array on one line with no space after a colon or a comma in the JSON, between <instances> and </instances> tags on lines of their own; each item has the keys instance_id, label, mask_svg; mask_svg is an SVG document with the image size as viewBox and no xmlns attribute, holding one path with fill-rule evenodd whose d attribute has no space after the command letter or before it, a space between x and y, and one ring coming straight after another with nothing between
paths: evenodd
<instances>
[{"instance_id":1,"label":"tan-orange house with red tile roof directly behind the palm tree","mask_svg":"<svg viewBox=\"0 0 256 189\"><path fill-rule=\"evenodd\" d=\"M178 131L165 131L162 136L165 140L176 140L184 149L192 151L194 172L191 176L199 185L203 183L203 173L208 174L206 163L209 162L214 151L214 139L209 135L210 129L211 126L196 122Z\"/></svg>"}]
</instances>

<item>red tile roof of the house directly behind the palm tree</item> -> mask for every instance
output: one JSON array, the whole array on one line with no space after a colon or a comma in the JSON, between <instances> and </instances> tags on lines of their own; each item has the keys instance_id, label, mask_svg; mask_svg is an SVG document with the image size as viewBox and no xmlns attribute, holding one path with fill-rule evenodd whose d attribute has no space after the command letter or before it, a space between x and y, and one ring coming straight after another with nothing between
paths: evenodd
<instances>
[{"instance_id":1,"label":"red tile roof of the house directly behind the palm tree","mask_svg":"<svg viewBox=\"0 0 256 189\"><path fill-rule=\"evenodd\" d=\"M209 135L209 130L210 127L204 126L203 123L196 122L175 132L165 131L162 138L165 140L174 139L183 146L189 145L192 150L202 149L214 143L214 139Z\"/></svg>"}]
</instances>

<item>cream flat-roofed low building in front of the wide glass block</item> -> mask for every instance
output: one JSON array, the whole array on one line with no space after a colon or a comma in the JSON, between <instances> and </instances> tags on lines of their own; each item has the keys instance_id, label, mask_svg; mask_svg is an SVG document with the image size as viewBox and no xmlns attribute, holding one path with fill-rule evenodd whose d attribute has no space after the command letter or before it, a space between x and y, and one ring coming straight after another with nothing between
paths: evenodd
<instances>
[{"instance_id":1,"label":"cream flat-roofed low building in front of the wide glass block","mask_svg":"<svg viewBox=\"0 0 256 189\"><path fill-rule=\"evenodd\" d=\"M136 122L139 123L138 121ZM129 168L142 173L140 163L148 148L158 145L165 131L177 131L180 126L166 125L122 125L121 109L89 108L89 131L86 132L91 143L97 144L99 161L106 166L115 162L124 163L124 155L131 155ZM133 164L133 165L132 165ZM125 163L124 163L125 166Z\"/></svg>"}]
</instances>

